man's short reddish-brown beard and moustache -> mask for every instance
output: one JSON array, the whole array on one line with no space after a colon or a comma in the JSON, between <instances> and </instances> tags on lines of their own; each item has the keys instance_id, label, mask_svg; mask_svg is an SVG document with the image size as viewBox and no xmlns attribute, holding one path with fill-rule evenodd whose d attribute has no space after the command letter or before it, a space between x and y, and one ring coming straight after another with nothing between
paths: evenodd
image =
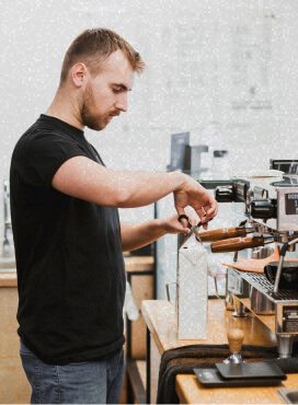
<instances>
[{"instance_id":1,"label":"man's short reddish-brown beard and moustache","mask_svg":"<svg viewBox=\"0 0 298 405\"><path fill-rule=\"evenodd\" d=\"M95 102L94 96L91 86L89 85L85 89L83 102L82 102L82 108L81 108L81 117L82 117L82 124L87 126L90 129L94 130L102 130L106 127L106 125L110 123L111 118L110 115L118 115L117 112L113 111L112 113L106 113L99 115L94 113L95 108Z\"/></svg>"}]
</instances>

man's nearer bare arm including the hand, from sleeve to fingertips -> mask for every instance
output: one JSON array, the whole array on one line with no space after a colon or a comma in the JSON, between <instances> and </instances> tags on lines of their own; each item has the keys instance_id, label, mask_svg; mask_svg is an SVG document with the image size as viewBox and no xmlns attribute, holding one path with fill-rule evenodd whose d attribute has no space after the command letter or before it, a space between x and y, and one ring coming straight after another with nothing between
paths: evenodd
<instances>
[{"instance_id":1,"label":"man's nearer bare arm including the hand, from sleeve to fingertips","mask_svg":"<svg viewBox=\"0 0 298 405\"><path fill-rule=\"evenodd\" d=\"M72 197L118 208L142 207L174 193L179 215L186 206L192 206L202 219L206 212L206 221L217 213L217 204L206 189L179 172L121 172L74 157L58 169L51 185ZM183 224L186 227L186 222Z\"/></svg>"}]
</instances>

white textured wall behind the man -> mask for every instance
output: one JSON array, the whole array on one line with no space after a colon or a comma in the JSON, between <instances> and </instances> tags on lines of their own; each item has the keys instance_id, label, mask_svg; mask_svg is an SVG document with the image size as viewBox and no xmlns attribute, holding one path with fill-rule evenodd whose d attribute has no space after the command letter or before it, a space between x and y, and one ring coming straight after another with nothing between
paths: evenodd
<instances>
[{"instance_id":1,"label":"white textured wall behind the man","mask_svg":"<svg viewBox=\"0 0 298 405\"><path fill-rule=\"evenodd\" d=\"M0 180L49 105L67 47L95 26L117 31L148 66L129 112L85 131L108 166L164 171L170 135L184 130L194 144L228 149L231 172L298 158L297 18L294 0L2 1ZM121 215L147 219L152 207ZM0 223L2 235L2 204Z\"/></svg>"}]
</instances>

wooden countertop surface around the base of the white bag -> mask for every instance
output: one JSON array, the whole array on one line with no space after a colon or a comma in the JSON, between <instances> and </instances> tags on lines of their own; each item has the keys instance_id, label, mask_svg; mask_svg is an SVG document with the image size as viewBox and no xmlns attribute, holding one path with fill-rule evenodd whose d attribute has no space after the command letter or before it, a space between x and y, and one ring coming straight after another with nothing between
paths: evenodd
<instances>
[{"instance_id":1,"label":"wooden countertop surface around the base of the white bag","mask_svg":"<svg viewBox=\"0 0 298 405\"><path fill-rule=\"evenodd\" d=\"M154 338L160 355L164 350L187 345L228 344L227 332L232 327L244 332L244 345L276 346L275 334L249 313L248 317L233 317L220 300L208 301L207 339L177 339L175 308L168 301L142 301L141 313Z\"/></svg>"}]
</instances>

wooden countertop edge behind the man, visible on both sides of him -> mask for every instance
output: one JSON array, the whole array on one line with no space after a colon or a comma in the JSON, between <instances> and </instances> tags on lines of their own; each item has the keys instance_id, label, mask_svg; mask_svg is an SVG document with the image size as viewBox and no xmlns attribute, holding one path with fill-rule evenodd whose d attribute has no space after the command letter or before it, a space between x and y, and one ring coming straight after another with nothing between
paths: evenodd
<instances>
[{"instance_id":1,"label":"wooden countertop edge behind the man, visible on both sides of him","mask_svg":"<svg viewBox=\"0 0 298 405\"><path fill-rule=\"evenodd\" d=\"M125 256L124 257L126 273L131 271L150 271L153 270L153 256ZM0 273L0 287L16 287L16 271L9 269L7 273Z\"/></svg>"}]
</instances>

